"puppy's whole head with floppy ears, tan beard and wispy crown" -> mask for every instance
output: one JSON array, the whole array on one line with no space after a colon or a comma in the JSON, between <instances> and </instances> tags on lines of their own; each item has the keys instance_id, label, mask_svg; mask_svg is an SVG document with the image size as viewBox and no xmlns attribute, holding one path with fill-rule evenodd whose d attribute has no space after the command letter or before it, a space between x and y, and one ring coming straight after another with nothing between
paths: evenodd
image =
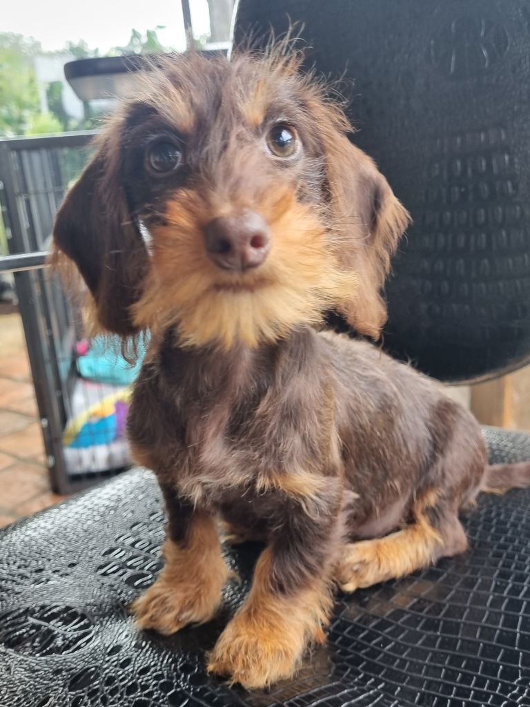
<instances>
[{"instance_id":1,"label":"puppy's whole head with floppy ears, tan beard and wispy crown","mask_svg":"<svg viewBox=\"0 0 530 707\"><path fill-rule=\"evenodd\" d=\"M298 64L176 57L107 124L54 229L104 329L256 346L338 308L377 337L408 216Z\"/></svg>"}]
</instances>

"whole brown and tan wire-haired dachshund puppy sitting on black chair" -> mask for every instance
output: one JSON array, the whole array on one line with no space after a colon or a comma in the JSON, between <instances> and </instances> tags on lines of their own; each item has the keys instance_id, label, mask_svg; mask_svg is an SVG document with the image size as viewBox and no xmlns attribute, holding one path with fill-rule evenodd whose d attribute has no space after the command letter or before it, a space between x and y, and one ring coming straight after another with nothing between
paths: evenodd
<instances>
[{"instance_id":1,"label":"whole brown and tan wire-haired dachshund puppy sitting on black chair","mask_svg":"<svg viewBox=\"0 0 530 707\"><path fill-rule=\"evenodd\" d=\"M102 329L151 332L129 439L167 506L165 568L132 611L173 633L208 621L229 571L218 518L263 539L208 670L247 687L324 640L331 590L466 549L459 508L488 467L471 414L377 338L408 214L293 53L176 57L98 137L54 230Z\"/></svg>"}]
</instances>

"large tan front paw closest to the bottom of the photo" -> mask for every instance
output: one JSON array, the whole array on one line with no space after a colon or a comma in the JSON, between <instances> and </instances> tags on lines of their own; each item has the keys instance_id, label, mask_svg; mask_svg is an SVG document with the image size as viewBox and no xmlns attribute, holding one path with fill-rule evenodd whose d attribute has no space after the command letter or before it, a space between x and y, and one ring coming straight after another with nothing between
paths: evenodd
<instances>
[{"instance_id":1,"label":"large tan front paw closest to the bottom of the photo","mask_svg":"<svg viewBox=\"0 0 530 707\"><path fill-rule=\"evenodd\" d=\"M247 689L291 677L300 664L305 636L281 620L273 625L261 619L253 620L245 611L236 614L209 656L208 672L230 676L230 684L239 682Z\"/></svg>"}]
</instances>

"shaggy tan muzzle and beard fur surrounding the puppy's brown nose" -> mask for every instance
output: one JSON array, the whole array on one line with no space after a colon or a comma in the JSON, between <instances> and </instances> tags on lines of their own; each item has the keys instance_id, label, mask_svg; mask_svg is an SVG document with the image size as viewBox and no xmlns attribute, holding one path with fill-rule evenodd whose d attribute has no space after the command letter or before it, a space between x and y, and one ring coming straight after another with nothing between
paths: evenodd
<instances>
[{"instance_id":1,"label":"shaggy tan muzzle and beard fur surrounding the puppy's brown nose","mask_svg":"<svg viewBox=\"0 0 530 707\"><path fill-rule=\"evenodd\" d=\"M346 293L354 296L356 276L338 267L310 206L288 189L271 189L256 206L271 229L269 257L255 271L227 273L208 259L202 236L222 206L190 189L177 192L167 205L167 225L151 232L152 267L134 306L136 325L156 332L175 324L180 343L189 346L257 346L319 322L322 310Z\"/></svg>"}]
</instances>

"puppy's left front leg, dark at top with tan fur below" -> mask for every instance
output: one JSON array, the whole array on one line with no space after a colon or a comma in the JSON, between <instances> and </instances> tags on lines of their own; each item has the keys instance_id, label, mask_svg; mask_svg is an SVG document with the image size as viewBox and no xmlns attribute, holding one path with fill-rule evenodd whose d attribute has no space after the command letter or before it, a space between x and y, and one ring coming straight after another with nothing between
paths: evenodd
<instances>
[{"instance_id":1,"label":"puppy's left front leg, dark at top with tan fur below","mask_svg":"<svg viewBox=\"0 0 530 707\"><path fill-rule=\"evenodd\" d=\"M220 553L215 518L169 486L162 491L168 514L165 567L130 608L139 628L170 634L213 617L229 570Z\"/></svg>"}]
</instances>

